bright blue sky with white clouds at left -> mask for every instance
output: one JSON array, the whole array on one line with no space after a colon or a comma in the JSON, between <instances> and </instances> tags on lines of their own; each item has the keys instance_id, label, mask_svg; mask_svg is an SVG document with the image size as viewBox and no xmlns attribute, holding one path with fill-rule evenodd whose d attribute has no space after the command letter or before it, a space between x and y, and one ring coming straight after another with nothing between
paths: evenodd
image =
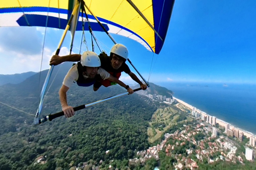
<instances>
[{"instance_id":1,"label":"bright blue sky with white clouds at left","mask_svg":"<svg viewBox=\"0 0 256 170\"><path fill-rule=\"evenodd\" d=\"M159 55L129 38L112 36L127 46L130 60L146 80L153 57L150 82L256 84L255 9L254 0L177 0ZM44 27L1 27L0 74L40 71L44 33ZM42 70L49 68L62 33L63 30L46 29ZM105 33L94 34L109 53L113 42ZM90 42L89 33L86 38ZM68 33L60 55L69 53L70 40ZM80 41L81 32L77 32L74 53L79 53ZM125 73L120 79L133 82Z\"/></svg>"}]
</instances>

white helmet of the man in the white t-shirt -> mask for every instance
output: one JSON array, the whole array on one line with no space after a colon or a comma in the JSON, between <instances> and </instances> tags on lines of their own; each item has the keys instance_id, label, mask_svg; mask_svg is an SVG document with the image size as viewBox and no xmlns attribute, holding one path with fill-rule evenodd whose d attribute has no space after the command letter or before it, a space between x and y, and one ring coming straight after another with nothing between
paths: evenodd
<instances>
[{"instance_id":1,"label":"white helmet of the man in the white t-shirt","mask_svg":"<svg viewBox=\"0 0 256 170\"><path fill-rule=\"evenodd\" d=\"M92 52L92 51L85 51L81 55L81 64L82 64L82 66L87 66L87 67L101 66L99 56L95 52Z\"/></svg>"}]
</instances>

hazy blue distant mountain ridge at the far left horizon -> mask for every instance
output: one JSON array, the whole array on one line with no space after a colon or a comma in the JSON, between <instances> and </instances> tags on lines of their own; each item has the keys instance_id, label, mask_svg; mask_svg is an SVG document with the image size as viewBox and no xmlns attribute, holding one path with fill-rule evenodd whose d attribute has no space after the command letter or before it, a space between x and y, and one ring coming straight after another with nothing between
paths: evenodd
<instances>
[{"instance_id":1,"label":"hazy blue distant mountain ridge at the far left horizon","mask_svg":"<svg viewBox=\"0 0 256 170\"><path fill-rule=\"evenodd\" d=\"M35 75L36 72L29 71L26 73L20 73L20 74L0 74L0 86L4 84L18 84L22 81L26 80L28 77Z\"/></svg>"}]
</instances>

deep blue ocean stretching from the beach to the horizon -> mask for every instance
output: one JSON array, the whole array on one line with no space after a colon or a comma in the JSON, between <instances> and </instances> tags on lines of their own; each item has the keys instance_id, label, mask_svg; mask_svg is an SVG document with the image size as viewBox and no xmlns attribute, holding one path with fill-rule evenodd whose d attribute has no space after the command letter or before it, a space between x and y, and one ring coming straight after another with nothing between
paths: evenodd
<instances>
[{"instance_id":1,"label":"deep blue ocean stretching from the beach to the horizon","mask_svg":"<svg viewBox=\"0 0 256 170\"><path fill-rule=\"evenodd\" d=\"M161 83L174 97L237 128L256 134L256 85Z\"/></svg>"}]
</instances>

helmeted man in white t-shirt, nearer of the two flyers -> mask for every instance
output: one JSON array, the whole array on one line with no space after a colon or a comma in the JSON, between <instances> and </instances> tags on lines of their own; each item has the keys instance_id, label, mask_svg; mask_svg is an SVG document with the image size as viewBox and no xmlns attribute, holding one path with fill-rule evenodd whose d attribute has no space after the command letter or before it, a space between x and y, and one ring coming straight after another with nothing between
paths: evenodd
<instances>
[{"instance_id":1,"label":"helmeted man in white t-shirt, nearer of the two flyers","mask_svg":"<svg viewBox=\"0 0 256 170\"><path fill-rule=\"evenodd\" d=\"M129 86L118 80L118 78L110 75L100 66L101 62L99 56L95 52L85 51L81 55L81 61L69 69L59 91L60 103L65 117L70 118L74 116L74 109L72 106L68 106L66 94L74 81L76 81L78 86L88 87L99 79L108 79L126 88L129 94L133 93L133 90Z\"/></svg>"}]
</instances>

